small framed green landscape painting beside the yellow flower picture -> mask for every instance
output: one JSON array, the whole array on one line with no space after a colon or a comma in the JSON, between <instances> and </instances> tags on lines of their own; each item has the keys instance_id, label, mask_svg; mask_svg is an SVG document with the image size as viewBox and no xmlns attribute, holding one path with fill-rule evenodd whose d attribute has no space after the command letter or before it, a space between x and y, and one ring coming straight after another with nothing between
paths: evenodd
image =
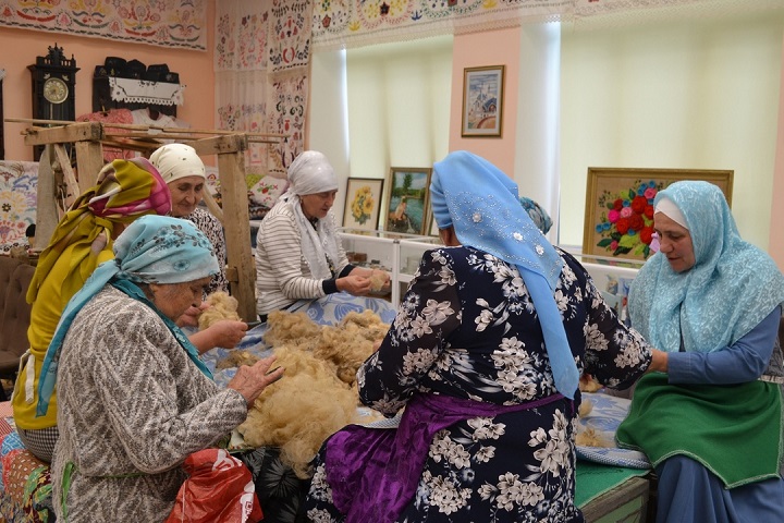
<instances>
[{"instance_id":1,"label":"small framed green landscape painting beside the yellow flower picture","mask_svg":"<svg viewBox=\"0 0 784 523\"><path fill-rule=\"evenodd\" d=\"M383 230L425 234L429 209L431 168L392 167L387 180Z\"/></svg>"}]
</instances>

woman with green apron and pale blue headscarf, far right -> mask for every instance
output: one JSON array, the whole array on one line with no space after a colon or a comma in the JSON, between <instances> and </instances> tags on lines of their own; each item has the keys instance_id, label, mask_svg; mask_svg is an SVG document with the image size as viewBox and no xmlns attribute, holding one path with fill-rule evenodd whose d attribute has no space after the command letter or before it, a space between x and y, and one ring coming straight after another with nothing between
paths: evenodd
<instances>
[{"instance_id":1,"label":"woman with green apron and pale blue headscarf, far right","mask_svg":"<svg viewBox=\"0 0 784 523\"><path fill-rule=\"evenodd\" d=\"M743 241L721 190L677 182L654 200L660 251L629 292L629 316L666 351L617 430L659 476L657 521L784 521L784 277Z\"/></svg>"}]
</instances>

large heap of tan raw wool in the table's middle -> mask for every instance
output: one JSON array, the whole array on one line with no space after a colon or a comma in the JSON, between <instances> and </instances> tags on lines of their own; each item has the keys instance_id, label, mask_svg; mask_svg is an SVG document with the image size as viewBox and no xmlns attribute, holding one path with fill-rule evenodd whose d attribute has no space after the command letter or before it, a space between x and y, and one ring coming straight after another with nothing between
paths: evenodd
<instances>
[{"instance_id":1,"label":"large heap of tan raw wool in the table's middle","mask_svg":"<svg viewBox=\"0 0 784 523\"><path fill-rule=\"evenodd\" d=\"M350 313L335 327L319 326L304 313L274 312L267 325L265 342L285 373L264 390L238 430L252 447L279 447L281 460L307 478L310 461L331 434L381 417L359 417L352 386L389 325L369 311Z\"/></svg>"}]
</instances>

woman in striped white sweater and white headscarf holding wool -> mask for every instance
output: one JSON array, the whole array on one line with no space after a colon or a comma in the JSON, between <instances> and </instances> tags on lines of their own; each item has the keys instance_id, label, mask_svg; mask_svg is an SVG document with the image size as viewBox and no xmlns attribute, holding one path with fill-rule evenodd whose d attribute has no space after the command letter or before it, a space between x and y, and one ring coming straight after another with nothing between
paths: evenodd
<instances>
[{"instance_id":1,"label":"woman in striped white sweater and white headscarf holding wool","mask_svg":"<svg viewBox=\"0 0 784 523\"><path fill-rule=\"evenodd\" d=\"M348 264L331 212L338 177L327 157L306 150L289 167L289 190L256 235L256 299L262 319L272 311L301 309L338 292L365 296L371 279L389 275ZM373 301L378 302L378 301ZM358 308L378 307L369 301Z\"/></svg>"}]
</instances>

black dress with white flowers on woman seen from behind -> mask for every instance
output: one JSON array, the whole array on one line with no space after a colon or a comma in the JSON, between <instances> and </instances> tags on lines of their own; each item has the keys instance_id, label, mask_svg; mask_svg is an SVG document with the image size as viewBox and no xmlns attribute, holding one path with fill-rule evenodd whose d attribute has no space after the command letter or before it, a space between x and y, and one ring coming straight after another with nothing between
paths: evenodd
<instances>
[{"instance_id":1,"label":"black dress with white flowers on woman seen from behind","mask_svg":"<svg viewBox=\"0 0 784 523\"><path fill-rule=\"evenodd\" d=\"M650 365L650 346L618 321L585 269L560 254L555 299L578 369L628 387ZM383 344L359 368L360 399L394 416L422 393L499 405L548 398L558 391L542 340L516 267L467 246L429 251ZM579 393L574 402L473 417L438 431L397 521L583 521L574 506L578 406ZM315 465L308 519L343 521L323 449Z\"/></svg>"}]
</instances>

